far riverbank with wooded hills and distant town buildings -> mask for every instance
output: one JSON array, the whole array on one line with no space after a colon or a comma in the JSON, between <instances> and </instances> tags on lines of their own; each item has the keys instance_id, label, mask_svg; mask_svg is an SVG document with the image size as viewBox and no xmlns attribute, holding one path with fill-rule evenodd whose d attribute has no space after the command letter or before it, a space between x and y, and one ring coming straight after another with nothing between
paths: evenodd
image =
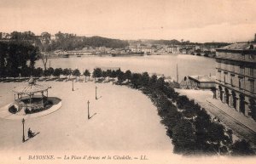
<instances>
[{"instance_id":1,"label":"far riverbank with wooded hills and distant town buildings","mask_svg":"<svg viewBox=\"0 0 256 164\"><path fill-rule=\"evenodd\" d=\"M40 52L52 58L83 55L158 55L158 54L192 54L214 58L216 48L230 42L189 42L172 40L119 40L106 37L79 37L75 34L62 33L55 35L43 32L36 36L32 31L0 32L0 41L29 42L38 47Z\"/></svg>"}]
</instances>

